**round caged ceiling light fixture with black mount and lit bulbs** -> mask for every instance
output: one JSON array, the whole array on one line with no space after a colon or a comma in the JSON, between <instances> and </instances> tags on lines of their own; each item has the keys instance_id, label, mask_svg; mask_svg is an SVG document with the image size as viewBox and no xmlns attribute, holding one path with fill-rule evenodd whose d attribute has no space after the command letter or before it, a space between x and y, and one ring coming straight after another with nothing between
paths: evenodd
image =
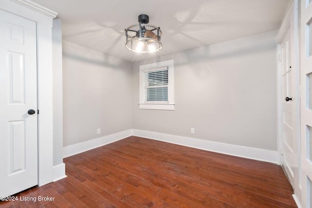
<instances>
[{"instance_id":1,"label":"round caged ceiling light fixture with black mount and lit bulbs","mask_svg":"<svg viewBox=\"0 0 312 208\"><path fill-rule=\"evenodd\" d=\"M126 31L126 48L138 53L151 53L162 48L160 27L148 24L147 15L138 16L138 24L131 25Z\"/></svg>"}]
</instances>

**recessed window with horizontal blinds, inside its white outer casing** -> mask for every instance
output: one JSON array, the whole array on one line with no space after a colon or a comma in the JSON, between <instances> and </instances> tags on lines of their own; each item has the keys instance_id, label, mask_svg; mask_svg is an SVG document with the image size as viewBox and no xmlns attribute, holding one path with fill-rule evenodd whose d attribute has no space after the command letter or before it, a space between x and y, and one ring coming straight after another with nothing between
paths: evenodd
<instances>
[{"instance_id":1,"label":"recessed window with horizontal blinds, inside its white outer casing","mask_svg":"<svg viewBox=\"0 0 312 208\"><path fill-rule=\"evenodd\" d=\"M144 72L144 94L147 102L168 102L168 67Z\"/></svg>"}]
</instances>

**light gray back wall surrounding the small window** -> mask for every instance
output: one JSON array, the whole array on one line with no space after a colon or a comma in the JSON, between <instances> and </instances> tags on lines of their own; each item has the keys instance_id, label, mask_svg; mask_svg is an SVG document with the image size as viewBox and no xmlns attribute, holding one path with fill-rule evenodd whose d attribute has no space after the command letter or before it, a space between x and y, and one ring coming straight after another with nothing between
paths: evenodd
<instances>
[{"instance_id":1,"label":"light gray back wall surrounding the small window","mask_svg":"<svg viewBox=\"0 0 312 208\"><path fill-rule=\"evenodd\" d=\"M133 129L276 151L276 33L132 63ZM169 59L175 111L140 110L139 65Z\"/></svg>"}]
</instances>

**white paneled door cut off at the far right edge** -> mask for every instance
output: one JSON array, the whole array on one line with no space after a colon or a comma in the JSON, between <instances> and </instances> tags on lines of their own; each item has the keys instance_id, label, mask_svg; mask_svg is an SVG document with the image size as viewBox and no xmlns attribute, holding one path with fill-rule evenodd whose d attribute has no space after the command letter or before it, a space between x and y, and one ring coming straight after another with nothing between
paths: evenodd
<instances>
[{"instance_id":1,"label":"white paneled door cut off at the far right edge","mask_svg":"<svg viewBox=\"0 0 312 208\"><path fill-rule=\"evenodd\" d=\"M312 2L301 0L302 207L312 207Z\"/></svg>"}]
</instances>

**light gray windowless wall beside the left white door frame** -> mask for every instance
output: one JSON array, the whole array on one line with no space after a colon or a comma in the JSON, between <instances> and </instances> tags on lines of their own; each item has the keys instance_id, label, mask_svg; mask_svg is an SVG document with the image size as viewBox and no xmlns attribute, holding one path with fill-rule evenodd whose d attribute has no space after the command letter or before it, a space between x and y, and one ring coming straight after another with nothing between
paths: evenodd
<instances>
[{"instance_id":1,"label":"light gray windowless wall beside the left white door frame","mask_svg":"<svg viewBox=\"0 0 312 208\"><path fill-rule=\"evenodd\" d=\"M132 128L130 64L63 41L64 147Z\"/></svg>"}]
</instances>

